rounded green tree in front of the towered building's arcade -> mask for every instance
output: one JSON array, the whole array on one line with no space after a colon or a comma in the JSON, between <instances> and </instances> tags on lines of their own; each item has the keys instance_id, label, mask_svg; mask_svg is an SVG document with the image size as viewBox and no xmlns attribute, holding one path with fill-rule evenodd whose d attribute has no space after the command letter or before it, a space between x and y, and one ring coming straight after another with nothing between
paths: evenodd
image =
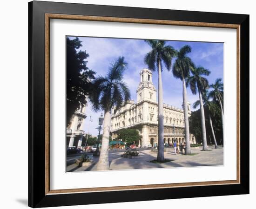
<instances>
[{"instance_id":1,"label":"rounded green tree in front of the towered building's arcade","mask_svg":"<svg viewBox=\"0 0 256 209\"><path fill-rule=\"evenodd\" d=\"M136 129L122 129L118 131L118 139L122 139L128 145L138 144L140 138L139 132Z\"/></svg>"}]
</instances>

